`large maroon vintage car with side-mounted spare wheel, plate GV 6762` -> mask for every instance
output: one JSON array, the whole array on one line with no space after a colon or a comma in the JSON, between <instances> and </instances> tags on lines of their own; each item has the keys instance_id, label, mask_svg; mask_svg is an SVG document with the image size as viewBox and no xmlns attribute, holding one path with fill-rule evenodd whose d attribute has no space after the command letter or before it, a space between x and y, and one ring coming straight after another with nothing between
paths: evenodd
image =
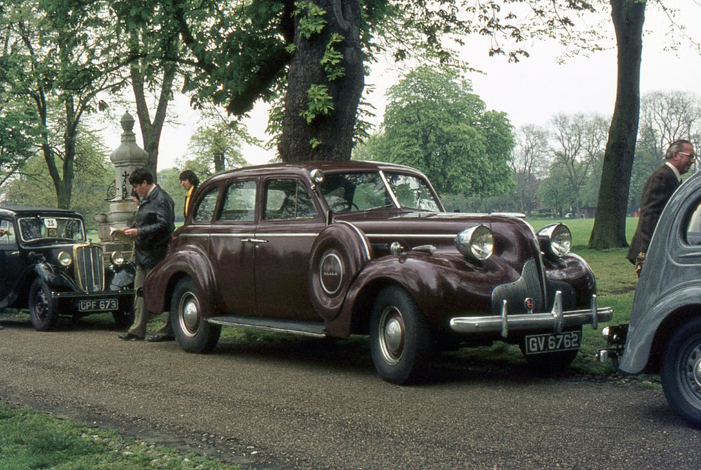
<instances>
[{"instance_id":1,"label":"large maroon vintage car with side-mounted spare wheel, plate GV 6762","mask_svg":"<svg viewBox=\"0 0 701 470\"><path fill-rule=\"evenodd\" d=\"M400 384L436 350L493 340L566 366L583 324L612 315L570 244L561 223L536 234L514 214L444 212L409 167L263 165L198 188L145 296L152 312L170 310L189 352L212 350L221 326L247 326L369 334L379 375Z\"/></svg>"}]
</instances>

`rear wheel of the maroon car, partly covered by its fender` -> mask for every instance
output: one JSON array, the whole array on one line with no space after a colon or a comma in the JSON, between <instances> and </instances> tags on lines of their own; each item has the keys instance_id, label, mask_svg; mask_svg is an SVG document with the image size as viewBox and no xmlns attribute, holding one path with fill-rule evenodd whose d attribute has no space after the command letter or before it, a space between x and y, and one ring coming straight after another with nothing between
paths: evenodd
<instances>
[{"instance_id":1,"label":"rear wheel of the maroon car, partly covered by its fender","mask_svg":"<svg viewBox=\"0 0 701 470\"><path fill-rule=\"evenodd\" d=\"M200 305L192 279L180 279L170 302L170 324L175 340L187 352L210 352L222 333L222 326L202 318Z\"/></svg>"}]
</instances>

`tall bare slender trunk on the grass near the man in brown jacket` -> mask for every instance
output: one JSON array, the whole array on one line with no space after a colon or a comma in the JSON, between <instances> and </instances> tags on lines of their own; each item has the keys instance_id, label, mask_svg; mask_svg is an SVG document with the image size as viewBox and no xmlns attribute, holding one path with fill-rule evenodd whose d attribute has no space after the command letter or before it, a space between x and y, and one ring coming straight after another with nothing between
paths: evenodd
<instances>
[{"instance_id":1,"label":"tall bare slender trunk on the grass near the man in brown jacket","mask_svg":"<svg viewBox=\"0 0 701 470\"><path fill-rule=\"evenodd\" d=\"M589 247L627 247L625 216L640 115L640 61L645 2L611 0L618 47L618 80L604 153L597 214Z\"/></svg>"}]
</instances>

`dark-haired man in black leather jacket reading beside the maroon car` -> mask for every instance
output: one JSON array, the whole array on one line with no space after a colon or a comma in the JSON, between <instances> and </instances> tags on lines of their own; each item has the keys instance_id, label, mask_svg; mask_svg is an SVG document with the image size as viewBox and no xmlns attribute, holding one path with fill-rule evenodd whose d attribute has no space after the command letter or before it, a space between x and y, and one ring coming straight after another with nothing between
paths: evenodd
<instances>
[{"instance_id":1,"label":"dark-haired man in black leather jacket reading beside the maroon car","mask_svg":"<svg viewBox=\"0 0 701 470\"><path fill-rule=\"evenodd\" d=\"M135 244L136 277L134 288L144 286L144 279L151 268L165 257L170 235L175 230L175 203L161 186L154 184L154 177L148 170L137 168L129 176L129 184L139 195L141 204L132 226L124 229L125 235L132 237ZM140 289L142 291L143 289ZM123 340L143 340L151 312L146 310L144 298L137 295L134 303L134 324L127 333L118 335ZM163 312L163 327L156 331L149 341L173 340L170 315Z\"/></svg>"}]
</instances>

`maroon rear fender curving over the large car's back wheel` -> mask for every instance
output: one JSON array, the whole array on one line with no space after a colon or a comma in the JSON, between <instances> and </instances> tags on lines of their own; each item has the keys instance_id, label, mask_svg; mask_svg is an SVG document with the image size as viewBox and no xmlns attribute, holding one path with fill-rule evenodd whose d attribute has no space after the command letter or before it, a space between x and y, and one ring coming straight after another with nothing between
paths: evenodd
<instances>
[{"instance_id":1,"label":"maroon rear fender curving over the large car's back wheel","mask_svg":"<svg viewBox=\"0 0 701 470\"><path fill-rule=\"evenodd\" d=\"M144 302L150 312L170 310L170 298L175 284L182 277L190 277L200 296L203 316L217 312L215 277L205 254L198 247L184 247L173 251L154 266L144 282Z\"/></svg>"}]
</instances>

